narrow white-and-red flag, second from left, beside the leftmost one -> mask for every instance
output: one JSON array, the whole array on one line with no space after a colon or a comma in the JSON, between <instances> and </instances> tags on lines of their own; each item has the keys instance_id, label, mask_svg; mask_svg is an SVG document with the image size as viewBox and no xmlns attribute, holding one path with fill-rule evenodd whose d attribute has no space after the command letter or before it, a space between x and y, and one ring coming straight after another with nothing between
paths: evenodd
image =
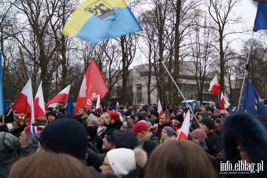
<instances>
[{"instance_id":1,"label":"narrow white-and-red flag, second from left, beside the leftmost one","mask_svg":"<svg viewBox=\"0 0 267 178\"><path fill-rule=\"evenodd\" d=\"M42 90L42 81L34 98L34 118L45 117L45 102Z\"/></svg>"}]
</instances>

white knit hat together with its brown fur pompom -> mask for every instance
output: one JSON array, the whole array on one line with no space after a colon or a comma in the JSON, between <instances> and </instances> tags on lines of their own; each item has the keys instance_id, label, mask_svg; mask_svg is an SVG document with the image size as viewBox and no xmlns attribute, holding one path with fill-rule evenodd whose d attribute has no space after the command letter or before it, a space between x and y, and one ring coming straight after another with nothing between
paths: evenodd
<instances>
[{"instance_id":1,"label":"white knit hat together with its brown fur pompom","mask_svg":"<svg viewBox=\"0 0 267 178\"><path fill-rule=\"evenodd\" d=\"M107 159L117 177L123 177L136 168L142 169L147 163L146 152L141 148L113 149L107 152Z\"/></svg>"}]
</instances>

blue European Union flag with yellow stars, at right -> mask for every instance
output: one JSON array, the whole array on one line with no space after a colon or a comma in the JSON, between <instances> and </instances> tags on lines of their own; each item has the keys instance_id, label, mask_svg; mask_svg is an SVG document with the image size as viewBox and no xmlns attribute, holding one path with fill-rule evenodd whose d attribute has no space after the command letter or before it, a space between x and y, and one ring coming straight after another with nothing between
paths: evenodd
<instances>
[{"instance_id":1,"label":"blue European Union flag with yellow stars, at right","mask_svg":"<svg viewBox=\"0 0 267 178\"><path fill-rule=\"evenodd\" d=\"M260 98L259 93L246 77L246 90L242 102L242 111L247 111L252 115L267 116L267 109Z\"/></svg>"}]
</instances>

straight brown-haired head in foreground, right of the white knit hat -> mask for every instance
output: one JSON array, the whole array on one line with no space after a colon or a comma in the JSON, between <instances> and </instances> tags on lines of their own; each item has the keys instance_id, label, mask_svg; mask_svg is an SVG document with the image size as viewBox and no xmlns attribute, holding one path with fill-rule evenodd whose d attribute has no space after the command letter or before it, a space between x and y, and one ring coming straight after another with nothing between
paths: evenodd
<instances>
[{"instance_id":1,"label":"straight brown-haired head in foreground, right of the white knit hat","mask_svg":"<svg viewBox=\"0 0 267 178\"><path fill-rule=\"evenodd\" d=\"M162 150L168 150L168 154ZM149 157L145 178L217 177L206 152L193 141L170 140L156 147L151 155L157 156Z\"/></svg>"}]
</instances>

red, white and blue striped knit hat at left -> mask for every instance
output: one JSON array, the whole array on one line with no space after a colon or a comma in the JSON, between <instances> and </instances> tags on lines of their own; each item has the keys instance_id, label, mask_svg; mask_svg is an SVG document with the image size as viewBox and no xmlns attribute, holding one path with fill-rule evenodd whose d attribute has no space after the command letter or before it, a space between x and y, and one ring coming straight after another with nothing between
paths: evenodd
<instances>
[{"instance_id":1,"label":"red, white and blue striped knit hat at left","mask_svg":"<svg viewBox=\"0 0 267 178\"><path fill-rule=\"evenodd\" d=\"M42 127L36 126L27 126L24 128L26 139L31 146L37 146L42 130Z\"/></svg>"}]
</instances>

